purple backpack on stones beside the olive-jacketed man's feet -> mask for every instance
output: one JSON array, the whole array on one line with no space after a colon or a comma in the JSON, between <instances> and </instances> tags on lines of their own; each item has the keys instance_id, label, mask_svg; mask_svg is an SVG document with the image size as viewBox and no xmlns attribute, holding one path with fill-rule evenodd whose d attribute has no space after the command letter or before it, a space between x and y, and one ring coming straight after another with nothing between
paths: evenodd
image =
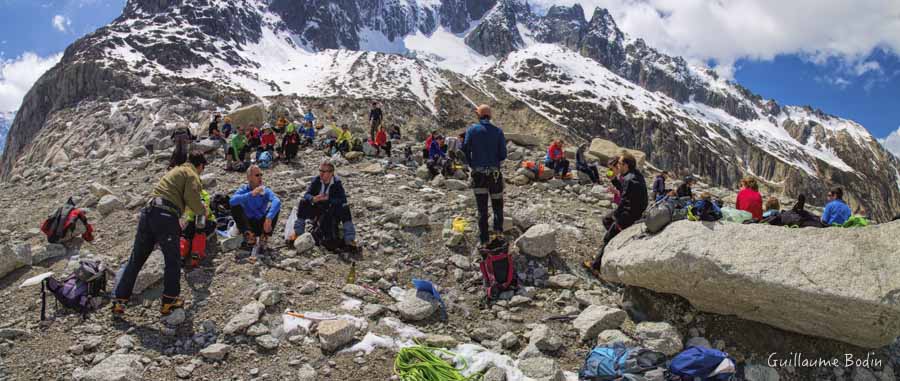
<instances>
[{"instance_id":1,"label":"purple backpack on stones beside the olive-jacketed man's feet","mask_svg":"<svg viewBox=\"0 0 900 381\"><path fill-rule=\"evenodd\" d=\"M41 320L46 320L47 291L66 308L77 310L82 316L98 305L94 298L106 291L106 269L100 263L82 261L78 269L63 281L49 277L41 287Z\"/></svg>"}]
</instances>

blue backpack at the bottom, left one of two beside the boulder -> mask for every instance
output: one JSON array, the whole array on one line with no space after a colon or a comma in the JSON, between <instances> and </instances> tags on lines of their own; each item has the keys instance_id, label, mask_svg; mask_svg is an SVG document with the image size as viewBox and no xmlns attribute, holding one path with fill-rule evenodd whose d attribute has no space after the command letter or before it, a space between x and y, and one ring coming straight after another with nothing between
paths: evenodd
<instances>
[{"instance_id":1,"label":"blue backpack at the bottom, left one of two beside the boulder","mask_svg":"<svg viewBox=\"0 0 900 381\"><path fill-rule=\"evenodd\" d=\"M659 368L666 356L645 348L628 348L622 342L594 347L578 372L579 380L617 380Z\"/></svg>"}]
</instances>

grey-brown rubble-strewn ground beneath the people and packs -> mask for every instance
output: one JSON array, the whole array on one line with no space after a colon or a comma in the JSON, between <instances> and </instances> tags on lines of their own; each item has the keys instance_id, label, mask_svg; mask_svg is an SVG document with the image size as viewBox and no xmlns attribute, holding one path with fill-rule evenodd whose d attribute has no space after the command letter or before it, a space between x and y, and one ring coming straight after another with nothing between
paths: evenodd
<instances>
[{"instance_id":1,"label":"grey-brown rubble-strewn ground beneath the people and packs","mask_svg":"<svg viewBox=\"0 0 900 381\"><path fill-rule=\"evenodd\" d=\"M514 143L510 148L513 158L539 155ZM612 207L606 187L516 180L516 160L505 168L510 184L504 226L515 242L523 285L490 307L482 302L472 254L475 233L446 228L457 216L475 228L474 198L465 182L425 180L416 168L367 157L338 160L337 170L364 247L355 284L346 282L349 262L278 239L270 255L252 264L214 250L183 275L187 307L165 319L157 311L162 272L154 254L139 281L146 289L135 295L124 321L111 320L106 308L82 320L50 301L52 318L39 322L38 289L18 285L47 271L67 274L78 258L100 258L118 268L130 253L137 211L168 155L128 147L52 170L28 169L4 184L2 255L27 258L31 265L0 279L6 302L0 309L0 379L389 380L396 379L397 344L413 339L460 352L471 370L487 373L486 380L575 379L590 348L614 340L669 355L687 345L720 348L737 358L747 380L885 381L895 380L893 369L900 366L895 345L874 351L880 364L770 368L772 352L843 363L844 353L865 358L869 351L702 313L675 296L602 284L578 264L599 246L600 219ZM319 151L307 150L297 163L265 171L264 181L284 201L278 232L321 159ZM203 174L211 193L230 192L244 180L223 166L218 152ZM710 191L733 199L731 191ZM37 227L69 196L87 208L97 238L79 257L67 258L65 250L46 244ZM411 291L413 278L440 289L446 320L432 298ZM282 315L288 309L336 318L291 329Z\"/></svg>"}]
</instances>

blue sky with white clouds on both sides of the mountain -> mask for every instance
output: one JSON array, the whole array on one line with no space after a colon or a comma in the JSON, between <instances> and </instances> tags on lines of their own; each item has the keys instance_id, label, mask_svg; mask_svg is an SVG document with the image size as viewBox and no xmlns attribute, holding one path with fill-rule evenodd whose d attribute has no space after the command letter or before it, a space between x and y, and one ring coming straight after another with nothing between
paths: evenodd
<instances>
[{"instance_id":1,"label":"blue sky with white clouds on both sides of the mountain","mask_svg":"<svg viewBox=\"0 0 900 381\"><path fill-rule=\"evenodd\" d=\"M609 8L629 35L692 62L718 63L721 74L781 104L853 119L879 138L900 126L896 0L531 1L575 2L589 18L595 7ZM69 44L118 17L124 4L0 0L0 109L16 108Z\"/></svg>"}]
</instances>

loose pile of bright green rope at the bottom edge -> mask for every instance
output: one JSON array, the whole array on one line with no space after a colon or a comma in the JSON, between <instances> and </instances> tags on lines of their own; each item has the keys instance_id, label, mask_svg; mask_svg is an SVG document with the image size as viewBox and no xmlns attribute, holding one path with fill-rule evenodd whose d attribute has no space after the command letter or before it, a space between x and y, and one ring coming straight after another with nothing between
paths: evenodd
<instances>
[{"instance_id":1,"label":"loose pile of bright green rope at the bottom edge","mask_svg":"<svg viewBox=\"0 0 900 381\"><path fill-rule=\"evenodd\" d=\"M438 357L435 352L444 353L462 360L461 369ZM478 381L481 374L473 374L469 377L460 373L469 367L466 360L457 357L455 353L441 348L432 348L416 345L400 349L394 359L394 373L400 376L401 381Z\"/></svg>"}]
</instances>

